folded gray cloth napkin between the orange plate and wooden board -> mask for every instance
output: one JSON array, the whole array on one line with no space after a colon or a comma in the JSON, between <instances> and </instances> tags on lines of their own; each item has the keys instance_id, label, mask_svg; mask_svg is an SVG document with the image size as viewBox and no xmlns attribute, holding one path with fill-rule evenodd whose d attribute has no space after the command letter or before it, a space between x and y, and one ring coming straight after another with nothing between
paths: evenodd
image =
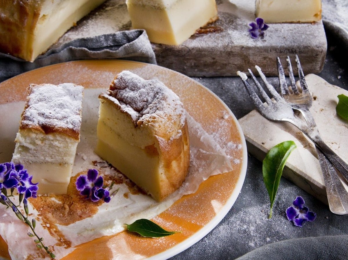
<instances>
[{"instance_id":1,"label":"folded gray cloth napkin between the orange plate and wooden board","mask_svg":"<svg viewBox=\"0 0 348 260\"><path fill-rule=\"evenodd\" d=\"M59 62L118 58L156 64L155 53L145 30L121 31L76 39L48 50L34 62L0 53L0 82L23 72Z\"/></svg>"}]
</instances>

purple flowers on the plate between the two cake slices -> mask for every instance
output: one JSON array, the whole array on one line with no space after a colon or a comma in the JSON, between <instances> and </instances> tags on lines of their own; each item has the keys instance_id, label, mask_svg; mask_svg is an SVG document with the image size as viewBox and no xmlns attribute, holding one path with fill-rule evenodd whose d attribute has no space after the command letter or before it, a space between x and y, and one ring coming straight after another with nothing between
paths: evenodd
<instances>
[{"instance_id":1,"label":"purple flowers on the plate between the two cake slices","mask_svg":"<svg viewBox=\"0 0 348 260\"><path fill-rule=\"evenodd\" d=\"M109 190L103 188L103 177L98 176L96 169L89 169L87 175L80 175L76 180L76 188L81 195L87 196L93 202L104 199L110 202Z\"/></svg>"}]
</instances>

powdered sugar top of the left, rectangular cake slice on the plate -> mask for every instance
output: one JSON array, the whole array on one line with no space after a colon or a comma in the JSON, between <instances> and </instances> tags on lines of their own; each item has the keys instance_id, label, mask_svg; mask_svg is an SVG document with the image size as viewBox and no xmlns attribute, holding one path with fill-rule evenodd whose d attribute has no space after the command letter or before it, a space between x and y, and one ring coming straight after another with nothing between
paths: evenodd
<instances>
[{"instance_id":1,"label":"powdered sugar top of the left, rectangular cake slice on the plate","mask_svg":"<svg viewBox=\"0 0 348 260\"><path fill-rule=\"evenodd\" d=\"M73 83L31 84L22 126L68 128L80 132L83 87Z\"/></svg>"}]
</instances>

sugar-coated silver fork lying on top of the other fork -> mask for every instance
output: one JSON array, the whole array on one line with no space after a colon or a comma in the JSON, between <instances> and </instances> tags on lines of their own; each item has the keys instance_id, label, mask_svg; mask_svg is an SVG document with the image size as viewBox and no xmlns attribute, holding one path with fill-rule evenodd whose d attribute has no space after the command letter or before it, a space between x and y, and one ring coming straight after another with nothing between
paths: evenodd
<instances>
[{"instance_id":1,"label":"sugar-coated silver fork lying on top of the other fork","mask_svg":"<svg viewBox=\"0 0 348 260\"><path fill-rule=\"evenodd\" d=\"M253 87L247 82L247 76L245 73L237 72L237 74L242 78L242 81L244 83L244 86L246 87L246 90L248 91L250 97L253 100L253 103L255 104L258 111L263 115L264 117L268 118L269 120L273 121L287 121L297 128L299 128L304 134L306 134L310 140L312 140L319 149L325 154L325 156L333 163L333 165L338 168L338 170L341 172L343 177L348 179L348 165L345 163L341 158L337 156L330 148L327 146L321 139L319 132L316 127L308 127L307 124L304 124L302 120L300 120L298 117L294 116L294 112L291 108L291 106L278 94L278 92L274 89L274 87L267 81L266 76L262 73L260 67L255 66L256 70L258 70L259 75L261 76L262 81L266 85L267 89L269 90L272 98L274 98L274 101L270 97L268 97L267 93L263 90L261 84L258 82L254 74L249 69L249 73L253 78L253 81L258 88L260 94L266 101L267 105L265 106L261 99L258 97L256 92L254 91ZM304 79L304 77L303 77ZM334 158L334 159L333 159ZM335 164L336 163L336 164ZM335 179L337 180L337 179ZM339 181L339 179L338 179ZM346 191L344 191L346 192ZM343 193L344 193L343 192ZM342 211L338 211L338 214L345 214Z\"/></svg>"}]
</instances>

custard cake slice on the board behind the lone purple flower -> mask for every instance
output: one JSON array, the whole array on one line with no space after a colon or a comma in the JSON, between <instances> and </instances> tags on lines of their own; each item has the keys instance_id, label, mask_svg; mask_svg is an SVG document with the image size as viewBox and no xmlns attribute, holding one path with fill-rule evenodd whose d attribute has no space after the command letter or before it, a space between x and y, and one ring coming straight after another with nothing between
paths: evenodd
<instances>
[{"instance_id":1,"label":"custard cake slice on the board behind the lone purple flower","mask_svg":"<svg viewBox=\"0 0 348 260\"><path fill-rule=\"evenodd\" d=\"M321 0L256 0L256 17L266 23L313 23L322 19Z\"/></svg>"}]
</instances>

